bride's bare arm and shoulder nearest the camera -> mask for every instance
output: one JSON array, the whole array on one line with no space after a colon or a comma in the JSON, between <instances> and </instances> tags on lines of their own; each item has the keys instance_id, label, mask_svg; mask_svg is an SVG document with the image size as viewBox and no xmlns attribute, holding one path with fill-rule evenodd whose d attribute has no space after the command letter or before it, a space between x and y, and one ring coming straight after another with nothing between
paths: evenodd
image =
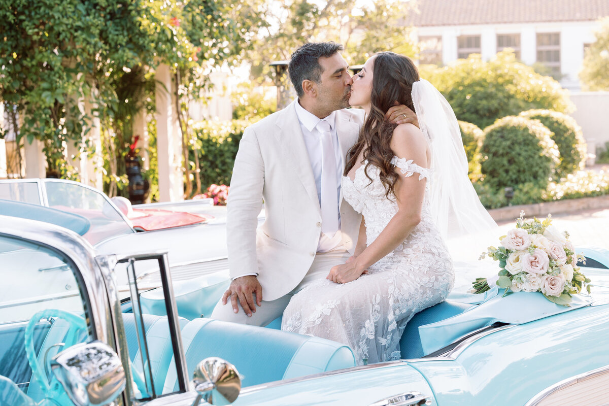
<instances>
[{"instance_id":1,"label":"bride's bare arm and shoulder nearest the camera","mask_svg":"<svg viewBox=\"0 0 609 406\"><path fill-rule=\"evenodd\" d=\"M414 125L398 125L393 131L391 148L396 156L412 159L419 166L428 167L427 144L421 131ZM346 283L359 278L366 268L395 250L421 221L426 180L419 180L417 175L406 177L398 167L395 170L398 177L395 183L398 212L355 261L333 267L327 279ZM359 247L359 242L357 246Z\"/></svg>"}]
</instances>

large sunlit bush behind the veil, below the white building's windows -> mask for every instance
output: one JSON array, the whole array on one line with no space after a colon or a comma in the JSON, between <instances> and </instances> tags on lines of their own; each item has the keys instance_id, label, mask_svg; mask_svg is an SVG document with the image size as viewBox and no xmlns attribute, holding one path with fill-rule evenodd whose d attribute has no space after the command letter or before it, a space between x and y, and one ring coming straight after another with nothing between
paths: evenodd
<instances>
[{"instance_id":1,"label":"large sunlit bush behind the veil, below the white building's windows","mask_svg":"<svg viewBox=\"0 0 609 406\"><path fill-rule=\"evenodd\" d=\"M457 119L480 128L532 108L561 113L574 109L558 82L516 61L510 51L488 62L474 54L443 68L425 65L420 71L446 97Z\"/></svg>"}]
</instances>

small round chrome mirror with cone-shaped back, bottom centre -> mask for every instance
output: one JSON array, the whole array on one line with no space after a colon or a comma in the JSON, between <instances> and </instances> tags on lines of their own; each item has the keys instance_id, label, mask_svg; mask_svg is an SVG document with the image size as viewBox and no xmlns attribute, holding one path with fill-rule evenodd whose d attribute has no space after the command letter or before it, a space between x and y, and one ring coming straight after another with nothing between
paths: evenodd
<instances>
[{"instance_id":1,"label":"small round chrome mirror with cone-shaped back, bottom centre","mask_svg":"<svg viewBox=\"0 0 609 406\"><path fill-rule=\"evenodd\" d=\"M192 385L198 396L192 406L201 399L211 405L230 405L241 391L241 378L237 368L217 357L209 357L197 365L192 374Z\"/></svg>"}]
</instances>

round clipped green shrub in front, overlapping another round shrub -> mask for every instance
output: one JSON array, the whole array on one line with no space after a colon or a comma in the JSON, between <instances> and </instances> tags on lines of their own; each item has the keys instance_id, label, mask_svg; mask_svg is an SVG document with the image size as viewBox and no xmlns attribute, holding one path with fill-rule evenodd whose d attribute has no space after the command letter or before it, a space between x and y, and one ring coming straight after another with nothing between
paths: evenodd
<instances>
[{"instance_id":1,"label":"round clipped green shrub in front, overlapping another round shrub","mask_svg":"<svg viewBox=\"0 0 609 406\"><path fill-rule=\"evenodd\" d=\"M558 164L552 133L538 120L507 116L484 130L482 174L495 189L523 183L545 188Z\"/></svg>"}]
</instances>

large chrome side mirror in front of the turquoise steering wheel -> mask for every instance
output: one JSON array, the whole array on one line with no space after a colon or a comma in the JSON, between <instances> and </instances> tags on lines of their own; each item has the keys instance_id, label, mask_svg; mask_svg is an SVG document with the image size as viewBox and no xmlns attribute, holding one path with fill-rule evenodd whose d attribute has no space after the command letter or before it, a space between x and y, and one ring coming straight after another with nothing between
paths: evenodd
<instances>
[{"instance_id":1,"label":"large chrome side mirror in front of the turquoise steering wheel","mask_svg":"<svg viewBox=\"0 0 609 406\"><path fill-rule=\"evenodd\" d=\"M127 382L118 355L100 341L63 350L51 360L51 370L77 406L107 405Z\"/></svg>"}]
</instances>

